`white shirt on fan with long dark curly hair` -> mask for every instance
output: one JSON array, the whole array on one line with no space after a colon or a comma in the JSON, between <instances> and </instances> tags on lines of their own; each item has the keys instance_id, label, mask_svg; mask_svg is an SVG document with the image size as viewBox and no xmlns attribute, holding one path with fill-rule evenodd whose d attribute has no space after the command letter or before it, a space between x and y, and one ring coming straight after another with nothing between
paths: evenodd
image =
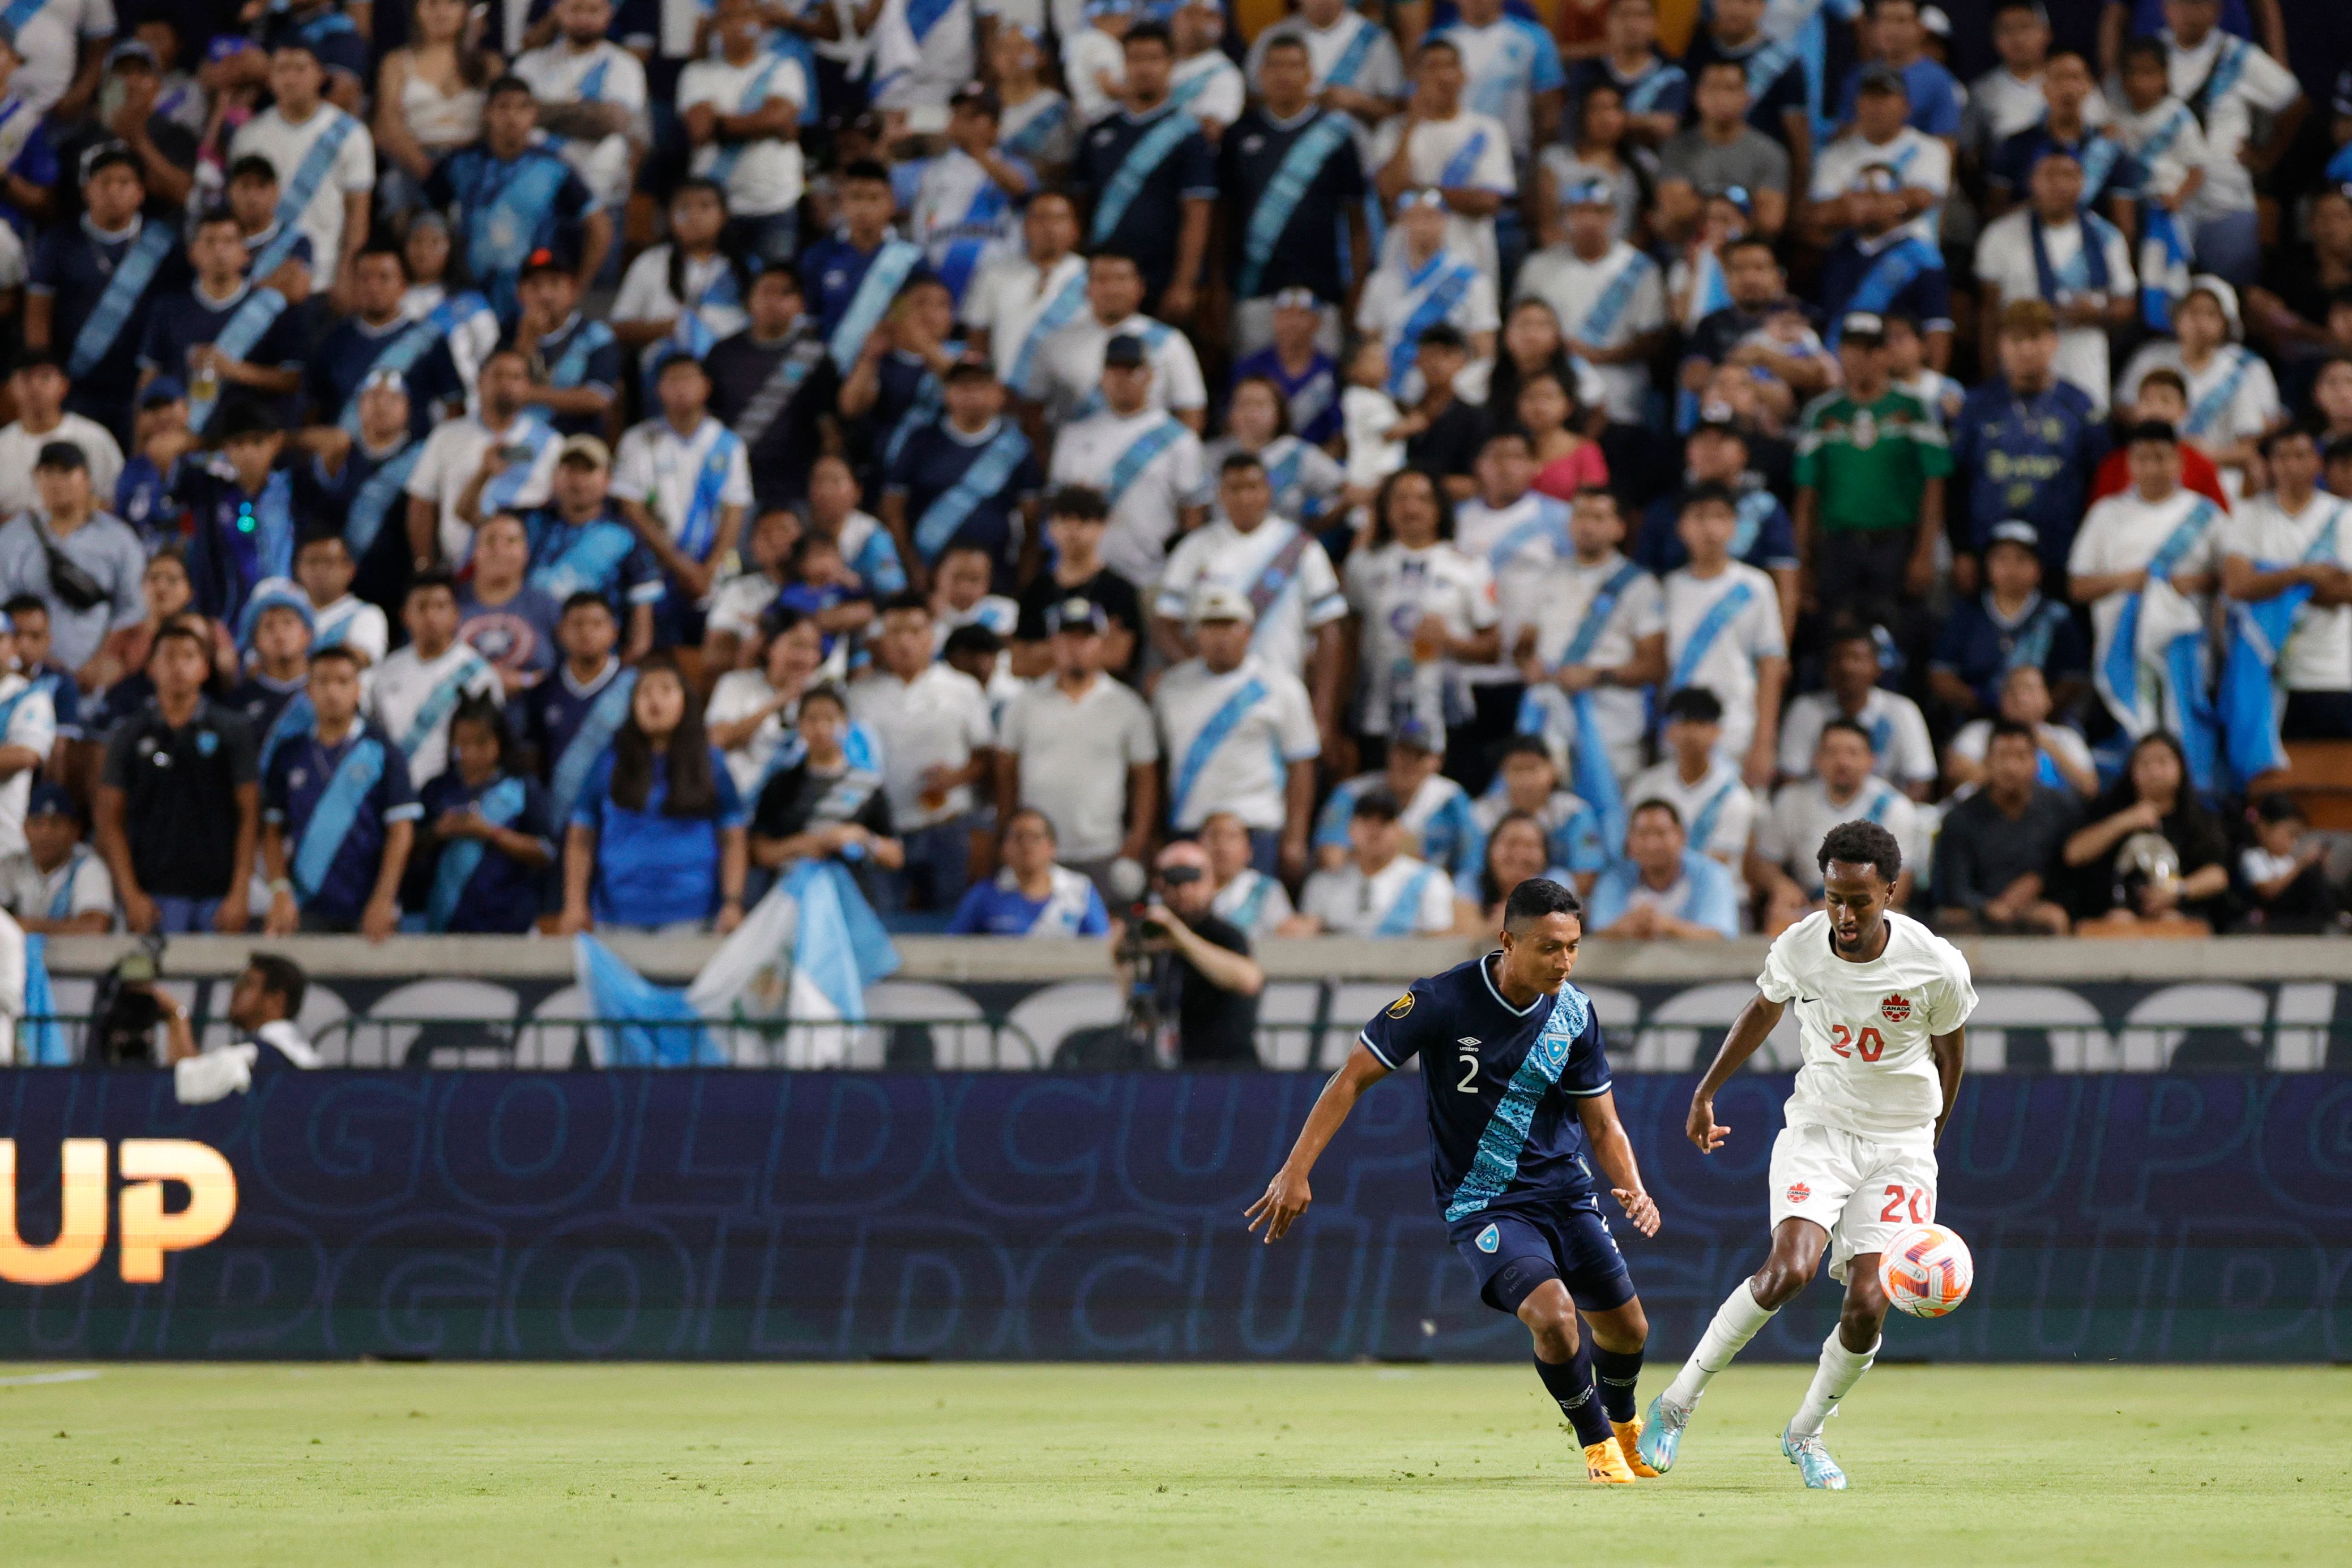
<instances>
[{"instance_id":1,"label":"white shirt on fan with long dark curly hair","mask_svg":"<svg viewBox=\"0 0 2352 1568\"><path fill-rule=\"evenodd\" d=\"M1362 729L1392 733L1416 719L1430 736L1446 733L1446 710L1458 708L1461 668L1446 658L1416 661L1414 628L1437 616L1456 642L1496 623L1494 578L1486 562L1439 541L1406 550L1390 541L1355 550L1345 569L1348 607L1362 621Z\"/></svg>"}]
</instances>

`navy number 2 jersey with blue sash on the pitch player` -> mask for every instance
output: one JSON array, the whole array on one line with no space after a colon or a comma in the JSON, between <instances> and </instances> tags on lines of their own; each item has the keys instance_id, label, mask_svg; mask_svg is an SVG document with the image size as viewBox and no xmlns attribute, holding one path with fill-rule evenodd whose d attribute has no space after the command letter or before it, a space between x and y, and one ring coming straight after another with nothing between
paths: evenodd
<instances>
[{"instance_id":1,"label":"navy number 2 jersey with blue sash on the pitch player","mask_svg":"<svg viewBox=\"0 0 2352 1568\"><path fill-rule=\"evenodd\" d=\"M1515 1009L1501 954L1414 980L1357 1039L1383 1067L1423 1056L1430 1180L1446 1220L1482 1211L1590 1206L1578 1100L1609 1088L1592 999L1573 985Z\"/></svg>"}]
</instances>

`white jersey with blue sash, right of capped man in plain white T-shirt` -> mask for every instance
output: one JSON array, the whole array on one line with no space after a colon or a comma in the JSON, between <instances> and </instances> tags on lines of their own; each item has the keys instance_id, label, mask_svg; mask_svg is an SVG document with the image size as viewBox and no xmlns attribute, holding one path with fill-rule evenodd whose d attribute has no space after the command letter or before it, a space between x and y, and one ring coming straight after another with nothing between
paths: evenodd
<instances>
[{"instance_id":1,"label":"white jersey with blue sash, right of capped man in plain white T-shirt","mask_svg":"<svg viewBox=\"0 0 2352 1568\"><path fill-rule=\"evenodd\" d=\"M1181 832L1218 811L1258 832L1282 827L1289 766L1322 755L1308 689L1256 654L1223 675L1197 658L1174 665L1152 691L1152 717Z\"/></svg>"}]
</instances>

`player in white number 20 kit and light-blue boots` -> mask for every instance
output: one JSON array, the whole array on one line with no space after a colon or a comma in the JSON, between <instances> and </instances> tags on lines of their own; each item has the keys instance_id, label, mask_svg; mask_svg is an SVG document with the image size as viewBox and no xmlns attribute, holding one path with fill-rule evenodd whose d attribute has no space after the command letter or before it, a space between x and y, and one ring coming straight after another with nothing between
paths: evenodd
<instances>
[{"instance_id":1,"label":"player in white number 20 kit and light-blue boots","mask_svg":"<svg viewBox=\"0 0 2352 1568\"><path fill-rule=\"evenodd\" d=\"M1879 1354L1879 1251L1905 1225L1936 1218L1936 1138L1959 1095L1964 1025L1976 1011L1969 961L1886 907L1903 849L1877 823L1832 827L1820 875L1828 907L1773 940L1755 999L1691 1093L1689 1138L1712 1154L1731 1138L1715 1119L1715 1093L1797 1006L1804 1067L1771 1150L1771 1258L1717 1307L1698 1349L1651 1401L1639 1453L1658 1472L1672 1469L1708 1380L1804 1291L1828 1251L1846 1305L1780 1453L1806 1486L1844 1490L1846 1472L1820 1446L1820 1427Z\"/></svg>"}]
</instances>

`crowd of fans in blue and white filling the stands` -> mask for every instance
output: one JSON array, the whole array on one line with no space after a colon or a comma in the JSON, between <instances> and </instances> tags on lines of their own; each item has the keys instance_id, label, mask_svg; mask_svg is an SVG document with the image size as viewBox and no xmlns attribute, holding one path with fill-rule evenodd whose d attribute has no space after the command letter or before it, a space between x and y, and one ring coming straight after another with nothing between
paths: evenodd
<instances>
[{"instance_id":1,"label":"crowd of fans in blue and white filling the stands","mask_svg":"<svg viewBox=\"0 0 2352 1568\"><path fill-rule=\"evenodd\" d=\"M2288 21L19 0L0 903L1698 940L1870 818L1947 931L2336 929Z\"/></svg>"}]
</instances>

